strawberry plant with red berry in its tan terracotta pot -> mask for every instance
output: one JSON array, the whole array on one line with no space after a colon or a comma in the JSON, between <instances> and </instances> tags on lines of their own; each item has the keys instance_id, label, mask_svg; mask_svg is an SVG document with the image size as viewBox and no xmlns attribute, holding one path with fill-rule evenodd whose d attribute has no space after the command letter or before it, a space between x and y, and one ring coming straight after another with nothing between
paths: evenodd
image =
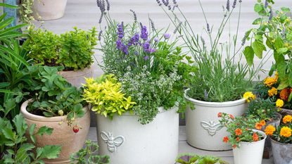
<instances>
[{"instance_id":1,"label":"strawberry plant with red berry in its tan terracotta pot","mask_svg":"<svg viewBox=\"0 0 292 164\"><path fill-rule=\"evenodd\" d=\"M61 155L44 160L46 163L69 162L70 154L84 145L90 125L89 107L82 101L81 90L72 87L57 71L53 67L39 67L36 82L31 86L33 98L25 101L20 109L29 127L53 128L50 136L35 139L37 146L61 146Z\"/></svg>"}]
</instances>

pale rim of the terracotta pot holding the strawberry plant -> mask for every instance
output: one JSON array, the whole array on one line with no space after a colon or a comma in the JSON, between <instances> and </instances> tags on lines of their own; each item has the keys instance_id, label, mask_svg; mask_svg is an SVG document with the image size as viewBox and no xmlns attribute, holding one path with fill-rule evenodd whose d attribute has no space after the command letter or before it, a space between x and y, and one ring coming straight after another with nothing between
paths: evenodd
<instances>
[{"instance_id":1,"label":"pale rim of the terracotta pot holding the strawberry plant","mask_svg":"<svg viewBox=\"0 0 292 164\"><path fill-rule=\"evenodd\" d=\"M67 115L63 115L63 116L54 116L54 117L45 117L42 115L34 115L32 113L29 113L26 108L28 103L33 102L33 99L28 99L27 101L23 102L23 104L21 104L20 107L20 112L23 114L23 116L25 118L28 118L30 120L37 120L40 122L60 122L63 120L66 120ZM89 111L89 106L84 106L83 110L85 111L85 113L87 113Z\"/></svg>"}]
</instances>

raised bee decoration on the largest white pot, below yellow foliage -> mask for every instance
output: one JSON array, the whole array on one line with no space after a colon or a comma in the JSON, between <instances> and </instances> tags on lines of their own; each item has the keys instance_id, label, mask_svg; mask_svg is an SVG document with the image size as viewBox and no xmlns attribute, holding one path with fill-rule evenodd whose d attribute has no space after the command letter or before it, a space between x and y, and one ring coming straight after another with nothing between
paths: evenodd
<instances>
[{"instance_id":1,"label":"raised bee decoration on the largest white pot, below yellow foliage","mask_svg":"<svg viewBox=\"0 0 292 164\"><path fill-rule=\"evenodd\" d=\"M118 146L121 146L122 143L125 141L125 137L117 136L113 137L111 132L104 132L101 131L101 139L108 145L108 151L114 153L117 151Z\"/></svg>"}]
</instances>

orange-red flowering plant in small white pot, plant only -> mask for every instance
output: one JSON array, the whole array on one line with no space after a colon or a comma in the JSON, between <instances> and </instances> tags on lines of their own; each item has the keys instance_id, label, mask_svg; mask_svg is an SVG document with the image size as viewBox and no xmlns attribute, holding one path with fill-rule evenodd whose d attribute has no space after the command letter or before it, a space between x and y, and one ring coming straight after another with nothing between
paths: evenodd
<instances>
[{"instance_id":1,"label":"orange-red flowering plant in small white pot, plant only","mask_svg":"<svg viewBox=\"0 0 292 164\"><path fill-rule=\"evenodd\" d=\"M263 138L260 133L253 131L255 126L260 126L260 129L262 129L262 126L265 125L263 120L252 117L231 118L227 113L218 113L218 116L220 116L221 125L227 127L227 132L230 133L222 141L230 143L233 148L239 147L241 141L253 142Z\"/></svg>"}]
</instances>

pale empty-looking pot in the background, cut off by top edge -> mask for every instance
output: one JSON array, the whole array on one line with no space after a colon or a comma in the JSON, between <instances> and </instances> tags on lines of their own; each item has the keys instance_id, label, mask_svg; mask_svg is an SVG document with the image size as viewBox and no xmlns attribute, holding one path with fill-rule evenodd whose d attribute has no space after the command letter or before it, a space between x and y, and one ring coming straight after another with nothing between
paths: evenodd
<instances>
[{"instance_id":1,"label":"pale empty-looking pot in the background, cut off by top edge","mask_svg":"<svg viewBox=\"0 0 292 164\"><path fill-rule=\"evenodd\" d=\"M33 16L36 20L55 20L65 13L67 0L34 0Z\"/></svg>"}]
</instances>

